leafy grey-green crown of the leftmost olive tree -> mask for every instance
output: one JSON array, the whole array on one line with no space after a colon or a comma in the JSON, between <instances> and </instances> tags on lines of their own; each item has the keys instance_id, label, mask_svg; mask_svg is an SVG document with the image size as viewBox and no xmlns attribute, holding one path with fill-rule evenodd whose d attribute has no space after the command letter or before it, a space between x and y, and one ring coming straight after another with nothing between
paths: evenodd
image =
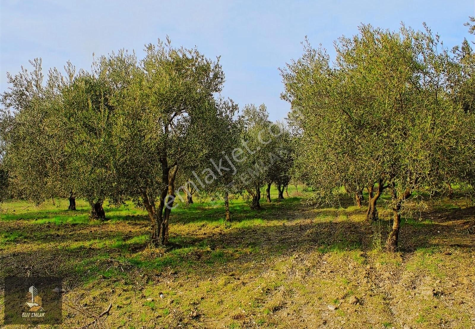
<instances>
[{"instance_id":1,"label":"leafy grey-green crown of the leftmost olive tree","mask_svg":"<svg viewBox=\"0 0 475 329\"><path fill-rule=\"evenodd\" d=\"M65 194L58 184L64 169L64 139L53 124L64 80L51 70L44 85L41 60L30 64L31 72L22 67L14 76L7 74L10 87L1 95L0 156L11 195L41 203Z\"/></svg>"}]
</instances>

